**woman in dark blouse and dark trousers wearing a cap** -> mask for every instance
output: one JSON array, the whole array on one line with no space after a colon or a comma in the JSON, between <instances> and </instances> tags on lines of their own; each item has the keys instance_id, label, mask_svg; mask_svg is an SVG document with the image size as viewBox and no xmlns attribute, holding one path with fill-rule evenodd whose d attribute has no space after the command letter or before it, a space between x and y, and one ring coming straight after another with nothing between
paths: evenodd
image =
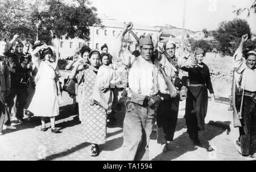
<instances>
[{"instance_id":1,"label":"woman in dark blouse and dark trousers wearing a cap","mask_svg":"<svg viewBox=\"0 0 256 172\"><path fill-rule=\"evenodd\" d=\"M198 133L199 131L204 131L204 119L207 115L208 107L208 90L213 101L215 97L212 82L210 81L209 68L203 62L205 57L204 50L197 48L195 57L197 63L195 67L182 67L181 69L188 72L190 81L185 107L187 133L193 144L201 145Z\"/></svg>"}]
</instances>

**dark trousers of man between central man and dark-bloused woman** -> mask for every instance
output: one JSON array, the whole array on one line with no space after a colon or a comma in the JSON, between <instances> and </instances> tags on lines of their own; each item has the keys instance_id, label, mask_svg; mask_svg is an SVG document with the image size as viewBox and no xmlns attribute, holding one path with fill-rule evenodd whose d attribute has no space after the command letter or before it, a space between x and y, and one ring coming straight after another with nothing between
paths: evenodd
<instances>
[{"instance_id":1,"label":"dark trousers of man between central man and dark-bloused woman","mask_svg":"<svg viewBox=\"0 0 256 172\"><path fill-rule=\"evenodd\" d=\"M173 141L179 114L179 98L162 100L156 114L158 143L164 144L167 141Z\"/></svg>"}]
</instances>

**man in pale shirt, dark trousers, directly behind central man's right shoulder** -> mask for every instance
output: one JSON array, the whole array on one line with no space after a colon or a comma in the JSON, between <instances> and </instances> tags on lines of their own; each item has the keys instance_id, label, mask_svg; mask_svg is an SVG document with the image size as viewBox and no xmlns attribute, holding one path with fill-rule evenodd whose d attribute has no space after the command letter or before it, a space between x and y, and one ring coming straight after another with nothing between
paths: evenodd
<instances>
[{"instance_id":1,"label":"man in pale shirt, dark trousers, directly behind central man's right shoulder","mask_svg":"<svg viewBox=\"0 0 256 172\"><path fill-rule=\"evenodd\" d=\"M168 77L170 77L173 83L176 86L177 90L180 90L181 87L184 89L185 86L182 85L181 79L178 78L179 68L181 66L187 66L192 68L194 65L193 62L187 57L177 57L175 55L176 44L169 40L164 44L164 51L167 52L169 57L177 63L178 68L175 68L169 61L168 58L161 54L160 64L164 67L164 70ZM163 152L170 150L170 145L168 142L173 141L175 128L177 124L177 116L179 113L179 102L183 100L179 91L177 93L168 93L167 86L163 78L159 78L159 88L162 96L165 99L159 103L158 110L156 111L156 123L157 123L157 141L159 144L163 145Z\"/></svg>"}]
</instances>

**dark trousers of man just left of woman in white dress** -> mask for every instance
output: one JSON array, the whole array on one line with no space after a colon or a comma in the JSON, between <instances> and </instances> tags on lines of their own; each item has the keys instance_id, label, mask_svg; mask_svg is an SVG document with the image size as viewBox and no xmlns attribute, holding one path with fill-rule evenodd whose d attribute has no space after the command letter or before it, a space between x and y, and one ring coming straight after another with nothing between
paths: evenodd
<instances>
[{"instance_id":1,"label":"dark trousers of man just left of woman in white dress","mask_svg":"<svg viewBox=\"0 0 256 172\"><path fill-rule=\"evenodd\" d=\"M10 114L11 114L11 108L13 108L13 106L14 106L15 96L16 96L16 107L17 107L16 118L20 119L20 118L23 118L23 110L27 104L27 97L28 97L27 86L20 85L18 87L11 88L11 94L7 98L8 120L5 123L6 125L11 125Z\"/></svg>"}]
</instances>

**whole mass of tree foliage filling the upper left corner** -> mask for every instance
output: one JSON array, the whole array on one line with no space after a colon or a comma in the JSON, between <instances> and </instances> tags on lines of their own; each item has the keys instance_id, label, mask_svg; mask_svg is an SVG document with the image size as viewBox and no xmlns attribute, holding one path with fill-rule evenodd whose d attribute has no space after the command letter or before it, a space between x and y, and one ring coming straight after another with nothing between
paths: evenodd
<instances>
[{"instance_id":1,"label":"whole mass of tree foliage filling the upper left corner","mask_svg":"<svg viewBox=\"0 0 256 172\"><path fill-rule=\"evenodd\" d=\"M97 10L89 7L88 0L0 0L0 33L10 37L15 33L50 43L61 39L79 37L89 39L89 26L100 24Z\"/></svg>"}]
</instances>

